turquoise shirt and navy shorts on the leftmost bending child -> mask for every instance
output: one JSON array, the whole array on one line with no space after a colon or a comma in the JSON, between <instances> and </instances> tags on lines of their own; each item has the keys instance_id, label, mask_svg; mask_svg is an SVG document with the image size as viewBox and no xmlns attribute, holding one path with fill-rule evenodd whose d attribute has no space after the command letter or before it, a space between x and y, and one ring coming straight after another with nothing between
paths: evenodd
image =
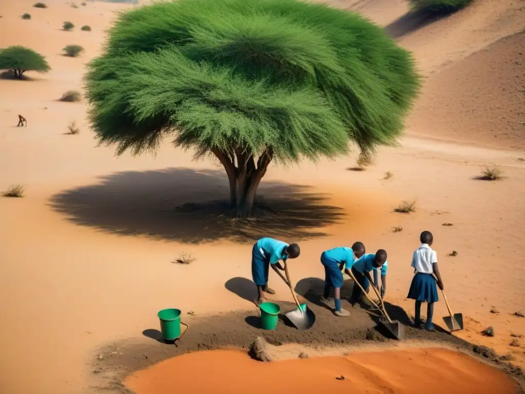
<instances>
[{"instance_id":1,"label":"turquoise shirt and navy shorts on the leftmost bending child","mask_svg":"<svg viewBox=\"0 0 525 394\"><path fill-rule=\"evenodd\" d=\"M261 238L257 241L251 250L251 277L257 286L268 283L270 264L286 261L287 256L283 254L283 249L287 246L287 243L273 238Z\"/></svg>"}]
</instances>

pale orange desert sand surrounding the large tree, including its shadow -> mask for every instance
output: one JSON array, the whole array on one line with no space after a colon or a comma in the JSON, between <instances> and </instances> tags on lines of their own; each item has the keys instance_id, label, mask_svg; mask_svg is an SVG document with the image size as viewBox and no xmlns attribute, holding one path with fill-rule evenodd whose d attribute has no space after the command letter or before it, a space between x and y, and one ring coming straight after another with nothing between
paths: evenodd
<instances>
[{"instance_id":1,"label":"pale orange desert sand surrounding the large tree, including its shadow","mask_svg":"<svg viewBox=\"0 0 525 394\"><path fill-rule=\"evenodd\" d=\"M0 190L25 187L22 199L0 199L0 389L6 394L87 392L100 346L151 341L142 331L158 328L162 308L193 311L190 324L253 309L225 283L250 278L251 243L261 235L260 223L239 232L216 215L174 213L186 202L226 197L218 163L193 162L169 141L156 157L116 158L113 148L95 146L85 102L58 101L67 90L81 90L85 64L99 53L114 13L133 6L46 3L46 9L29 0L0 4L0 47L33 48L52 68L28 72L33 80L0 80ZM381 149L366 171L347 170L354 156L272 166L260 194L281 204L294 226L262 227L299 240L300 262L290 272L295 281L322 277L319 255L328 248L356 240L369 250L385 248L387 300L408 313L411 253L419 233L432 231L447 297L466 316L465 330L455 335L510 353L524 367L525 338L518 347L509 344L511 333L525 336L525 318L513 315L525 310L525 1L476 0L412 30L402 19L405 1L331 3L370 17L413 51L423 92L400 146ZM30 20L20 18L25 12ZM61 30L65 20L74 31ZM82 25L92 31L82 32ZM85 51L62 56L69 44ZM16 128L19 113L27 128ZM77 135L65 134L71 120ZM505 178L476 180L484 165L497 165ZM416 211L394 213L403 200L415 200ZM457 256L448 256L452 251ZM172 264L183 252L196 261ZM285 285L271 280L274 298L291 300ZM499 313L490 313L493 307ZM446 315L439 302L436 322ZM480 335L487 326L494 337Z\"/></svg>"}]
</instances>

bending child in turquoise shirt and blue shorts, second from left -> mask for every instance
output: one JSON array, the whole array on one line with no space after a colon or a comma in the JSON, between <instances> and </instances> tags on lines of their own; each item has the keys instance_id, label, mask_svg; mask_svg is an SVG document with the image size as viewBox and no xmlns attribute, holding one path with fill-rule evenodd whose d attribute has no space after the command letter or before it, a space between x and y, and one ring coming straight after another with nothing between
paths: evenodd
<instances>
[{"instance_id":1,"label":"bending child in turquoise shirt and blue shorts, second from left","mask_svg":"<svg viewBox=\"0 0 525 394\"><path fill-rule=\"evenodd\" d=\"M321 254L321 264L324 266L324 294L322 302L331 304L330 290L333 291L333 302L335 304L335 316L350 316L348 310L341 308L341 287L343 286L343 266L346 274L350 275L350 269L354 260L364 254L364 245L362 242L355 242L352 247L334 247Z\"/></svg>"}]
</instances>

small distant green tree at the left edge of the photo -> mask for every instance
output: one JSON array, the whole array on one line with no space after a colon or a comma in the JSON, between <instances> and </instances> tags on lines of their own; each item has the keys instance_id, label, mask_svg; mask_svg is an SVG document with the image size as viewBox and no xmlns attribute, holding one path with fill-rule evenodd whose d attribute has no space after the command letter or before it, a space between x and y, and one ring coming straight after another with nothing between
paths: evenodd
<instances>
[{"instance_id":1,"label":"small distant green tree at the left edge of the photo","mask_svg":"<svg viewBox=\"0 0 525 394\"><path fill-rule=\"evenodd\" d=\"M21 79L26 71L47 72L50 67L44 56L33 49L16 45L0 49L0 70L12 71Z\"/></svg>"}]
</instances>

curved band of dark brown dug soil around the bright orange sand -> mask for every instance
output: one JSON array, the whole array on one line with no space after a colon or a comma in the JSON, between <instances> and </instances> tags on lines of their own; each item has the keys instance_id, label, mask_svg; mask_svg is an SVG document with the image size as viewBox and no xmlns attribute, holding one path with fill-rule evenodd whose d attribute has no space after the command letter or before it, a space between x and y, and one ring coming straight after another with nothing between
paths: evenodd
<instances>
[{"instance_id":1,"label":"curved band of dark brown dug soil around the bright orange sand","mask_svg":"<svg viewBox=\"0 0 525 394\"><path fill-rule=\"evenodd\" d=\"M395 345L398 343L390 333L380 324L380 315L376 311L364 309L361 306L351 305L345 300L349 296L351 281L346 281L341 294L341 304L350 310L351 316L337 317L332 310L321 303L323 281L318 278L303 279L296 291L308 302L308 308L316 315L314 325L304 331L287 325L283 318L277 328L272 331L259 328L260 318L258 308L252 310L232 312L203 318L192 318L187 333L175 344L165 344L158 330L144 330L143 334L150 339L133 338L107 345L93 356L92 373L94 377L93 390L97 393L130 393L122 384L124 378L132 372L144 369L159 361L184 354L190 351L241 348L249 351L257 337L264 338L269 344L282 345L298 343L303 345L335 346L335 345ZM300 289L303 288L304 292ZM288 312L296 308L289 302L277 302L281 311ZM473 347L463 339L456 338L443 328L439 327L435 319L436 331L411 327L411 319L406 312L397 305L385 302L387 313L393 320L405 325L405 341L413 343L433 341L458 350L470 352L488 361L492 361L504 369L514 378L525 380L523 371L508 362L503 362L499 356L489 348ZM152 340L153 339L153 340ZM266 364L266 363L265 363Z\"/></svg>"}]
</instances>

